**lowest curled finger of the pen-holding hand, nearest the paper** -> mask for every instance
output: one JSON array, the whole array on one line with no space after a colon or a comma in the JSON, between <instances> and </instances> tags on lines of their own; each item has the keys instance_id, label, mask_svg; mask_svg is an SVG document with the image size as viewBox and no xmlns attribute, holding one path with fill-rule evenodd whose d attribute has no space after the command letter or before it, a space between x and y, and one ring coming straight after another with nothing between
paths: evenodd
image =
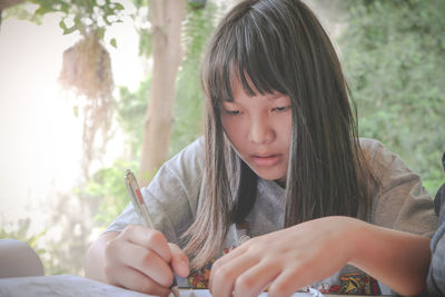
<instances>
[{"instance_id":1,"label":"lowest curled finger of the pen-holding hand, nearest the paper","mask_svg":"<svg viewBox=\"0 0 445 297\"><path fill-rule=\"evenodd\" d=\"M170 293L170 289L168 287L160 286L150 277L130 267L123 267L122 269L116 271L115 276L116 281L113 285L125 287L130 290L156 296L168 296Z\"/></svg>"}]
</instances>

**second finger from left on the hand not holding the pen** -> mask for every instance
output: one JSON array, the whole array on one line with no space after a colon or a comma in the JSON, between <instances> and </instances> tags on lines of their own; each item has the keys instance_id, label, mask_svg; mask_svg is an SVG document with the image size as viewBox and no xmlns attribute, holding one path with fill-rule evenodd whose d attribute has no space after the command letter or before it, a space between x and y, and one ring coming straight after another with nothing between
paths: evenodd
<instances>
[{"instance_id":1,"label":"second finger from left on the hand not holding the pen","mask_svg":"<svg viewBox=\"0 0 445 297\"><path fill-rule=\"evenodd\" d=\"M235 281L234 296L258 296L281 271L278 265L260 261Z\"/></svg>"}]
</instances>

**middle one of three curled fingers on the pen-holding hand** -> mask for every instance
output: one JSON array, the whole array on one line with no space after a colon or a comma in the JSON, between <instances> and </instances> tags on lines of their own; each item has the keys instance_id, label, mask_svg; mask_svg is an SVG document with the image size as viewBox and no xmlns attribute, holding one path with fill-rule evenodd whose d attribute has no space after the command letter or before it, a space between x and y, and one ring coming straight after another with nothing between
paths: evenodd
<instances>
[{"instance_id":1,"label":"middle one of three curled fingers on the pen-holding hand","mask_svg":"<svg viewBox=\"0 0 445 297\"><path fill-rule=\"evenodd\" d=\"M115 247L113 255L120 255L121 264L145 274L162 287L168 287L174 280L174 273L168 263L149 248L123 241Z\"/></svg>"}]
</instances>

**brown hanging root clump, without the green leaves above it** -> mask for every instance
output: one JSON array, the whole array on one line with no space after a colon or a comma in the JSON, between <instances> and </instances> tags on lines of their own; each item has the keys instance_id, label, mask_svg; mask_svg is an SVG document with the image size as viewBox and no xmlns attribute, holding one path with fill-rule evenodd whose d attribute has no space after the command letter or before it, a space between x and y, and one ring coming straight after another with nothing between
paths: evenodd
<instances>
[{"instance_id":1,"label":"brown hanging root clump, without the green leaves above it","mask_svg":"<svg viewBox=\"0 0 445 297\"><path fill-rule=\"evenodd\" d=\"M97 37L97 31L88 32L63 52L59 82L78 95L83 118L82 167L88 176L89 162L99 157L98 154L103 154L113 113L110 57ZM97 141L99 132L101 141Z\"/></svg>"}]
</instances>

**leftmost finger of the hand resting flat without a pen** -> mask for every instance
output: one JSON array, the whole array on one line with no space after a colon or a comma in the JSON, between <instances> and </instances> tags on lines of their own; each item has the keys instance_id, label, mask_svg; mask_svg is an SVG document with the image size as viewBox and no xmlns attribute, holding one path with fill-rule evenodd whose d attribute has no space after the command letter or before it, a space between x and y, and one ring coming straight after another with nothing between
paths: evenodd
<instances>
[{"instance_id":1,"label":"leftmost finger of the hand resting flat without a pen","mask_svg":"<svg viewBox=\"0 0 445 297\"><path fill-rule=\"evenodd\" d=\"M209 289L215 296L231 296L237 277L257 265L259 259L239 254L238 257L233 257L230 261L226 260L222 265L218 261L211 267Z\"/></svg>"}]
</instances>

